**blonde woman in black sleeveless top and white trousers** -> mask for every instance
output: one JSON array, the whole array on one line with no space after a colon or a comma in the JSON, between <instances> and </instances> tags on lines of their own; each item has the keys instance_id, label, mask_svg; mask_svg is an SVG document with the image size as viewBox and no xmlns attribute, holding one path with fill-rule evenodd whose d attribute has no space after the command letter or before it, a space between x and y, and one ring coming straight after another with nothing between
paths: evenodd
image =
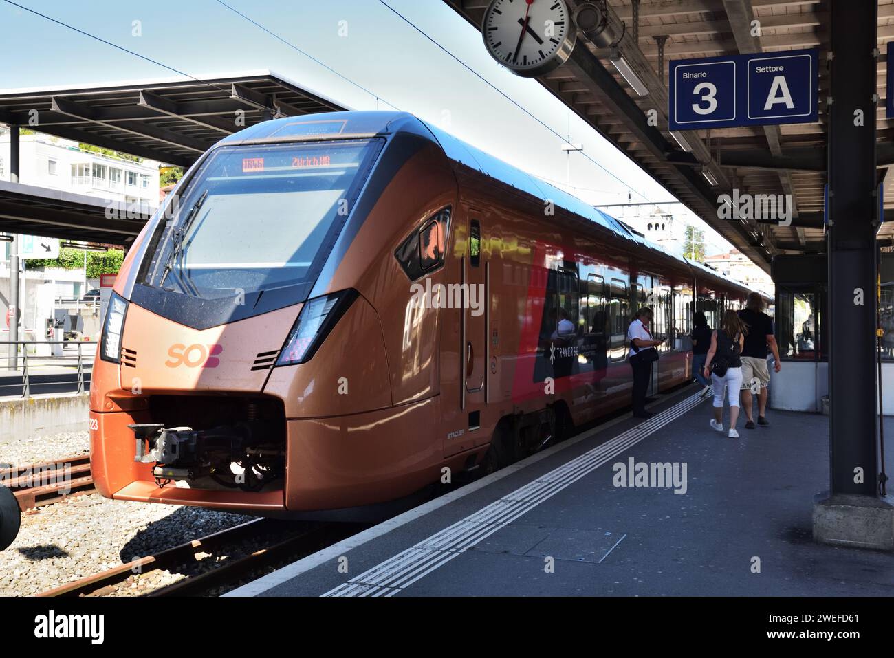
<instances>
[{"instance_id":1,"label":"blonde woman in black sleeveless top and white trousers","mask_svg":"<svg viewBox=\"0 0 894 658\"><path fill-rule=\"evenodd\" d=\"M728 309L723 313L720 328L711 334L711 347L704 359L704 376L711 375L714 387L714 418L711 426L723 431L723 388L727 389L730 400L730 439L738 439L738 391L742 387L742 344L748 328L739 319L736 311Z\"/></svg>"}]
</instances>

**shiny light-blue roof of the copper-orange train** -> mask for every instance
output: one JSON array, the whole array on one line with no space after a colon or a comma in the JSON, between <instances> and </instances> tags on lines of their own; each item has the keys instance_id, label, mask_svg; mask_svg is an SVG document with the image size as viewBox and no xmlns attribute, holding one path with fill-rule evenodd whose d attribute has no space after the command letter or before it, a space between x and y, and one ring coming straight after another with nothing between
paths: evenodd
<instances>
[{"instance_id":1,"label":"shiny light-blue roof of the copper-orange train","mask_svg":"<svg viewBox=\"0 0 894 658\"><path fill-rule=\"evenodd\" d=\"M748 290L744 283L738 282L736 279L722 274L713 268L704 266L704 264L695 260L689 260L686 257L678 256L662 249L660 245L646 240L642 235L629 229L626 224L604 213L602 210L590 206L582 199L560 190L533 174L510 165L500 158L468 144L468 142L462 139L454 137L449 132L419 119L414 114L406 112L350 111L292 116L256 123L244 131L236 132L221 139L217 145L299 139L386 137L400 131L419 133L420 127L425 127L434 141L443 149L444 154L451 160L460 163L460 165L465 165L516 190L521 190L534 198L540 199L544 204L552 201L554 205L561 207L572 215L578 215L603 227L603 229L614 233L622 240L629 240L641 248L654 251L663 257L672 258L685 266L693 267L704 274L716 277L742 290Z\"/></svg>"}]
</instances>

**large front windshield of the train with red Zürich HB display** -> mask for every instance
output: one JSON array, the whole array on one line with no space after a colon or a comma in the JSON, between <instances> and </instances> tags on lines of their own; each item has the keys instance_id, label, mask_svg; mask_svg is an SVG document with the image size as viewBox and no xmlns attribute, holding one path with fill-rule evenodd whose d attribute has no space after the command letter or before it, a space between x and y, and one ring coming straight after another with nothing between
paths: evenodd
<instances>
[{"instance_id":1,"label":"large front windshield of the train with red Z\u00fcrich HB display","mask_svg":"<svg viewBox=\"0 0 894 658\"><path fill-rule=\"evenodd\" d=\"M312 283L380 143L218 148L159 225L140 283L208 299Z\"/></svg>"}]
</instances>

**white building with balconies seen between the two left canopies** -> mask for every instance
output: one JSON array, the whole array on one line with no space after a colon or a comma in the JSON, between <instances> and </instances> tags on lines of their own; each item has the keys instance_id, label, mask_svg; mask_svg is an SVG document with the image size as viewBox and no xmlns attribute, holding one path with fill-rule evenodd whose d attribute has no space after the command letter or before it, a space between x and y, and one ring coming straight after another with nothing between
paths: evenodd
<instances>
[{"instance_id":1,"label":"white building with balconies seen between the two left canopies","mask_svg":"<svg viewBox=\"0 0 894 658\"><path fill-rule=\"evenodd\" d=\"M71 139L42 133L19 138L19 182L115 201L158 205L158 165L105 156ZM0 181L10 177L9 131L0 129Z\"/></svg>"}]
</instances>

